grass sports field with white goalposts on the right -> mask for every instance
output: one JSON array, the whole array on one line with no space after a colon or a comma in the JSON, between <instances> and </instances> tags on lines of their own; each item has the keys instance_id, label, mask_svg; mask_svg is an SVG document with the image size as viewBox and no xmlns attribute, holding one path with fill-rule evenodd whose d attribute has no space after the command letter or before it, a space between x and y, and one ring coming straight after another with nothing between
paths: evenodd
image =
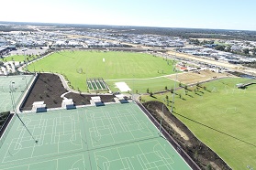
<instances>
[{"instance_id":1,"label":"grass sports field with white goalposts on the right","mask_svg":"<svg viewBox=\"0 0 256 170\"><path fill-rule=\"evenodd\" d=\"M198 88L196 94L195 88L190 88L187 95L184 90L177 90L184 99L176 95L174 104L175 116L228 165L238 170L247 169L247 165L256 167L256 85L239 90L236 84L244 81L248 80L238 78L208 82L202 85L206 86L206 90ZM144 99L162 101L165 95ZM171 94L168 95L172 99Z\"/></svg>"}]
</instances>

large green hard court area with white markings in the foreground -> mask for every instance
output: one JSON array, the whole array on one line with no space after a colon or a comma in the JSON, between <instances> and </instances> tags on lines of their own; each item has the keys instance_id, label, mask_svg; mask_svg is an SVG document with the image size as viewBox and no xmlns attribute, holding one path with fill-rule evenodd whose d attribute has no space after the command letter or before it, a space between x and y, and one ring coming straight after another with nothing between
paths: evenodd
<instances>
[{"instance_id":1,"label":"large green hard court area with white markings in the foreground","mask_svg":"<svg viewBox=\"0 0 256 170\"><path fill-rule=\"evenodd\" d=\"M0 169L190 169L135 103L19 115Z\"/></svg>"}]
</instances>

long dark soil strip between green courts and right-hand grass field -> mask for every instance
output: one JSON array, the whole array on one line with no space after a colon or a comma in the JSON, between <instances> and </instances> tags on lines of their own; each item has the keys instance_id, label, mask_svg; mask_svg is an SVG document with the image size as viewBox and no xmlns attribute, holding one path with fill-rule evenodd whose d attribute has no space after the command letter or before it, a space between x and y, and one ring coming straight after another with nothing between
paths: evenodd
<instances>
[{"instance_id":1,"label":"long dark soil strip between green courts and right-hand grass field","mask_svg":"<svg viewBox=\"0 0 256 170\"><path fill-rule=\"evenodd\" d=\"M161 115L164 115L162 117L162 127L173 136L175 141L183 147L184 151L195 161L196 165L200 166L200 168L209 169L211 167L212 169L231 169L215 152L208 148L206 144L201 143L183 122L179 121L173 114L171 114L167 107L164 106L163 112L161 112L161 102L148 101L143 103L143 105L158 122L161 120ZM179 130L177 131L177 129ZM184 138L183 133L188 137L188 140Z\"/></svg>"}]
</instances>

